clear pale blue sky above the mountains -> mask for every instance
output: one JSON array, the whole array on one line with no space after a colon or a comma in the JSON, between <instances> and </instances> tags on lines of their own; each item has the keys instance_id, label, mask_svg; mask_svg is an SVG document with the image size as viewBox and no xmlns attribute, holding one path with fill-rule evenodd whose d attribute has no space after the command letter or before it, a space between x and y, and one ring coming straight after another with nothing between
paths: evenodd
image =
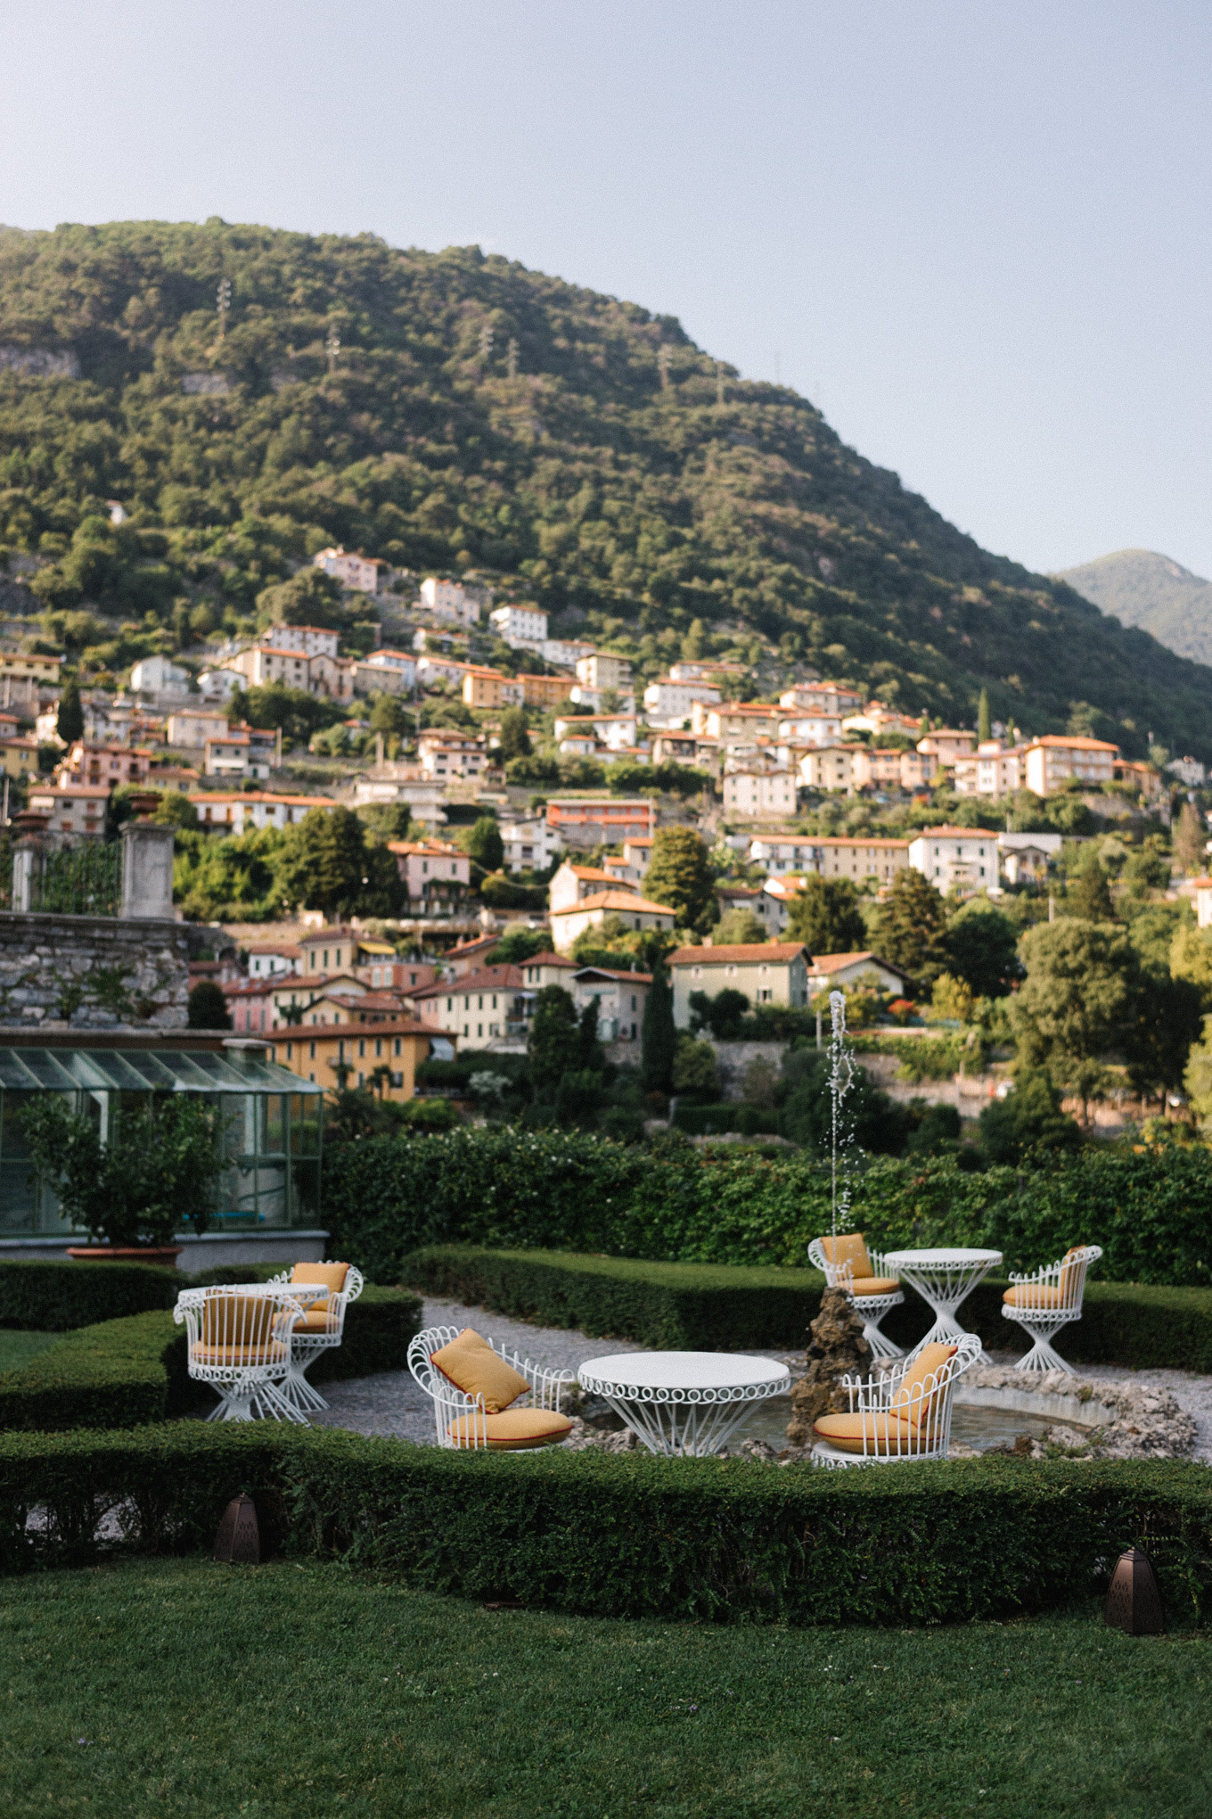
<instances>
[{"instance_id":1,"label":"clear pale blue sky above the mountains","mask_svg":"<svg viewBox=\"0 0 1212 1819\"><path fill-rule=\"evenodd\" d=\"M9 0L0 220L476 242L676 315L985 548L1212 575L1212 7Z\"/></svg>"}]
</instances>

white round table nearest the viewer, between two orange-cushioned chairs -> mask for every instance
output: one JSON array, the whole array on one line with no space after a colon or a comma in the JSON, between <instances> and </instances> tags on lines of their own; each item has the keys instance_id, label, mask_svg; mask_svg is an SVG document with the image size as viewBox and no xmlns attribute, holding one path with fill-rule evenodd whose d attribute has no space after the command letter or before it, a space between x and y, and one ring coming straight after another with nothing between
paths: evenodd
<instances>
[{"instance_id":1,"label":"white round table nearest the viewer, between two orange-cushioned chairs","mask_svg":"<svg viewBox=\"0 0 1212 1819\"><path fill-rule=\"evenodd\" d=\"M732 1352L620 1352L576 1373L651 1453L718 1453L752 1402L785 1395L790 1372Z\"/></svg>"}]
</instances>

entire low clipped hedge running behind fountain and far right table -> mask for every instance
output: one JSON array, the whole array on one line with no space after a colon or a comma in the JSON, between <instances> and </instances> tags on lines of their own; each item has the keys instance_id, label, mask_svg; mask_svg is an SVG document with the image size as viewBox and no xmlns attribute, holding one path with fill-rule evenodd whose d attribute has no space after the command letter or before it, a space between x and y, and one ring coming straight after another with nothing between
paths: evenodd
<instances>
[{"instance_id":1,"label":"entire low clipped hedge running behind fountain and far right table","mask_svg":"<svg viewBox=\"0 0 1212 1819\"><path fill-rule=\"evenodd\" d=\"M805 1344L820 1311L816 1270L660 1264L574 1251L507 1251L429 1246L403 1259L403 1281L431 1295L492 1308L540 1326L629 1339L658 1350L721 1352ZM999 1352L1025 1352L1021 1326L1001 1317L1003 1279L987 1277L959 1311L961 1322ZM912 1291L883 1321L901 1346L925 1337L934 1315ZM1088 1282L1079 1322L1058 1341L1074 1364L1212 1373L1212 1290Z\"/></svg>"}]
</instances>

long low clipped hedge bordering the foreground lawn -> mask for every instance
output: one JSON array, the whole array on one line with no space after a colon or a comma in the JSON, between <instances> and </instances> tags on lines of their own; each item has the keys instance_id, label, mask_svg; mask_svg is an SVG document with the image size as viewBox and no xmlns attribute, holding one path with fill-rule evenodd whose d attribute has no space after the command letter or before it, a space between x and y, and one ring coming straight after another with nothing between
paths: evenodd
<instances>
[{"instance_id":1,"label":"long low clipped hedge bordering the foreground lawn","mask_svg":"<svg viewBox=\"0 0 1212 1819\"><path fill-rule=\"evenodd\" d=\"M0 1563L205 1548L227 1501L251 1492L263 1537L287 1552L594 1617L999 1617L1088 1597L1137 1544L1157 1568L1170 1626L1188 1626L1207 1619L1212 1586L1207 1484L1190 1464L778 1472L184 1422L0 1437ZM96 1539L102 1524L111 1539Z\"/></svg>"}]
</instances>

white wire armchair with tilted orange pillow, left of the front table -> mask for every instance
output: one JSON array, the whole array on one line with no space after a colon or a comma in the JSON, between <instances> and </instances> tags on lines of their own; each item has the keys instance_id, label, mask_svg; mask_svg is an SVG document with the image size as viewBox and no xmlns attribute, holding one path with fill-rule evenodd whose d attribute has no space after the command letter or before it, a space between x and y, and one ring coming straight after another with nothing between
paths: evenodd
<instances>
[{"instance_id":1,"label":"white wire armchair with tilted orange pillow, left of the front table","mask_svg":"<svg viewBox=\"0 0 1212 1819\"><path fill-rule=\"evenodd\" d=\"M522 1452L572 1428L560 1413L571 1370L543 1370L471 1328L425 1328L409 1346L409 1370L434 1404L438 1446Z\"/></svg>"}]
</instances>

